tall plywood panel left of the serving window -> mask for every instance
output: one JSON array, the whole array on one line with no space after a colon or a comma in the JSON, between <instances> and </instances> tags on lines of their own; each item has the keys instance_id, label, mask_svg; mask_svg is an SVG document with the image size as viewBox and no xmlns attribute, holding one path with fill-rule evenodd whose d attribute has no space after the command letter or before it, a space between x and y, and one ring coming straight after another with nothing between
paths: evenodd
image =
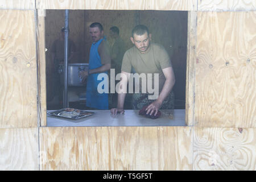
<instances>
[{"instance_id":1,"label":"tall plywood panel left of the serving window","mask_svg":"<svg viewBox=\"0 0 256 182\"><path fill-rule=\"evenodd\" d=\"M0 10L0 127L37 127L34 11Z\"/></svg>"}]
</instances>

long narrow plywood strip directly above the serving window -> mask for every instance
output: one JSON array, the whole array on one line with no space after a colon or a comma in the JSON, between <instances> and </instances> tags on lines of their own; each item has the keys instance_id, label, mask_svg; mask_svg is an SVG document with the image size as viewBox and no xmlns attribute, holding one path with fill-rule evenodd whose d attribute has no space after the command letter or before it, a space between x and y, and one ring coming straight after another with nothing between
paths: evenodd
<instances>
[{"instance_id":1,"label":"long narrow plywood strip directly above the serving window","mask_svg":"<svg viewBox=\"0 0 256 182\"><path fill-rule=\"evenodd\" d=\"M80 10L197 10L197 0L104 0L104 1L51 1L37 0L37 9L80 9Z\"/></svg>"}]
</instances>

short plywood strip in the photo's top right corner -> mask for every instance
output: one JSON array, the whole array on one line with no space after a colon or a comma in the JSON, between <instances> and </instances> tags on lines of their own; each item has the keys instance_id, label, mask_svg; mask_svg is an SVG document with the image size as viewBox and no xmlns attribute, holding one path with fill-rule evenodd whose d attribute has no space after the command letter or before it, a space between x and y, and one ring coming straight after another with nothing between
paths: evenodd
<instances>
[{"instance_id":1,"label":"short plywood strip in the photo's top right corner","mask_svg":"<svg viewBox=\"0 0 256 182\"><path fill-rule=\"evenodd\" d=\"M255 0L198 0L198 11L255 11Z\"/></svg>"}]
</instances>

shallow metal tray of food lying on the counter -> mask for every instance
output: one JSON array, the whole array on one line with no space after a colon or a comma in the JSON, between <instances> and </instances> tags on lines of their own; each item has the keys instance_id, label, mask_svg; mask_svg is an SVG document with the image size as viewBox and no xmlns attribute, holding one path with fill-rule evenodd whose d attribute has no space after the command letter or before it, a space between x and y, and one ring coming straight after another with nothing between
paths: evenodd
<instances>
[{"instance_id":1,"label":"shallow metal tray of food lying on the counter","mask_svg":"<svg viewBox=\"0 0 256 182\"><path fill-rule=\"evenodd\" d=\"M80 118L88 117L93 113L94 112L91 112L91 111L79 110L79 109L73 109L73 108L64 108L64 109L59 109L52 112L47 112L47 114L51 114L53 116L61 117L61 118L68 118L68 119L80 119Z\"/></svg>"}]
</instances>

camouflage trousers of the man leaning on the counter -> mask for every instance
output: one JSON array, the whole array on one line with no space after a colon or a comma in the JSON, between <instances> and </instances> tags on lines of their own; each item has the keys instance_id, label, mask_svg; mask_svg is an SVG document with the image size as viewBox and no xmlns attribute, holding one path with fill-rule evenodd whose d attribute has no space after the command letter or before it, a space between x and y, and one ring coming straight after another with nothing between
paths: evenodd
<instances>
[{"instance_id":1,"label":"camouflage trousers of the man leaning on the counter","mask_svg":"<svg viewBox=\"0 0 256 182\"><path fill-rule=\"evenodd\" d=\"M148 94L146 93L134 93L133 94L133 109L141 110L144 105L150 105L155 100L148 100ZM166 99L163 101L160 109L174 109L174 92L172 91Z\"/></svg>"}]
</instances>

